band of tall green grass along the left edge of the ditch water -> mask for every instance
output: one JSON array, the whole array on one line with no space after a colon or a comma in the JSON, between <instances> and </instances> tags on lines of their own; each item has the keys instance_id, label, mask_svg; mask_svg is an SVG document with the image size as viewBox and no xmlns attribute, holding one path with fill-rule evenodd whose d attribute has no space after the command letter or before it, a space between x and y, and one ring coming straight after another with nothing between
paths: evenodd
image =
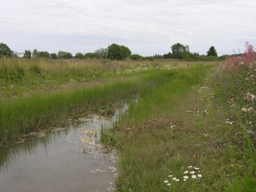
<instances>
[{"instance_id":1,"label":"band of tall green grass along the left edge of the ditch water","mask_svg":"<svg viewBox=\"0 0 256 192\"><path fill-rule=\"evenodd\" d=\"M156 70L129 80L0 101L0 142L6 143L19 135L65 123L70 115L114 104L138 94L151 86L151 82L157 86L166 73Z\"/></svg>"}]
</instances>

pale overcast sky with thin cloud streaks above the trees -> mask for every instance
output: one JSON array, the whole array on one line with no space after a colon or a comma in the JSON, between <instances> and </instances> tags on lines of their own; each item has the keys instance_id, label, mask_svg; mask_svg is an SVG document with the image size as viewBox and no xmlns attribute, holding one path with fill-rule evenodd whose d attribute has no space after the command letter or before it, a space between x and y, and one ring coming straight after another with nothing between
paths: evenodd
<instances>
[{"instance_id":1,"label":"pale overcast sky with thin cloud streaks above the trees","mask_svg":"<svg viewBox=\"0 0 256 192\"><path fill-rule=\"evenodd\" d=\"M0 42L73 55L117 43L144 56L179 42L232 54L256 46L255 10L255 0L1 0Z\"/></svg>"}]
</instances>

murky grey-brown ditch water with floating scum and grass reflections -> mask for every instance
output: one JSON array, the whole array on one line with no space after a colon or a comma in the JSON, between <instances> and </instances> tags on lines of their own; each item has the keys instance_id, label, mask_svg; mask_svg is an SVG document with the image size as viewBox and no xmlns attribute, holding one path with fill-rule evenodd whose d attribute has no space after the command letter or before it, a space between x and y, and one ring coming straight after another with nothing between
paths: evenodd
<instances>
[{"instance_id":1,"label":"murky grey-brown ditch water with floating scum and grass reflections","mask_svg":"<svg viewBox=\"0 0 256 192\"><path fill-rule=\"evenodd\" d=\"M110 128L127 108L110 118L73 118L65 129L31 133L20 143L0 147L0 191L113 191L116 152L99 144L100 129Z\"/></svg>"}]
</instances>

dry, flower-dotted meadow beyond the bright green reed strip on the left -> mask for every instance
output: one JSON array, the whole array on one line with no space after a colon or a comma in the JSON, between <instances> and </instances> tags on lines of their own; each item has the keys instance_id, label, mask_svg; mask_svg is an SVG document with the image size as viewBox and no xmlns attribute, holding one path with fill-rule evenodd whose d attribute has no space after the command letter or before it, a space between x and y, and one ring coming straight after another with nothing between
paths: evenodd
<instances>
[{"instance_id":1,"label":"dry, flower-dotted meadow beyond the bright green reed strip on the left","mask_svg":"<svg viewBox=\"0 0 256 192\"><path fill-rule=\"evenodd\" d=\"M195 63L202 62L0 58L0 99L100 84Z\"/></svg>"}]
</instances>

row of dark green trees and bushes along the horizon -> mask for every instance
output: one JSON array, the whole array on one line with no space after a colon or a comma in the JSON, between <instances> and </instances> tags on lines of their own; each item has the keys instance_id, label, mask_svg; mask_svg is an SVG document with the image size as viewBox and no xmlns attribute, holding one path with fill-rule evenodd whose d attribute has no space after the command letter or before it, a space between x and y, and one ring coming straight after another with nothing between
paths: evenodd
<instances>
[{"instance_id":1,"label":"row of dark green trees and bushes along the horizon","mask_svg":"<svg viewBox=\"0 0 256 192\"><path fill-rule=\"evenodd\" d=\"M153 56L144 57L139 54L132 54L131 50L124 46L112 43L107 48L99 48L93 53L76 53L73 56L69 52L64 52L59 50L56 53L48 53L47 51L37 51L34 49L32 52L30 50L25 50L24 53L18 53L12 51L6 44L0 43L0 56L2 57L12 57L20 58L23 55L23 58L51 58L51 59L94 59L94 58L107 58L111 60L123 60L123 59L132 59L136 61L142 60L154 60L154 59L184 59L184 60L200 60L200 61L216 61L220 59L225 59L230 55L222 55L218 57L217 51L214 46L211 46L207 51L207 55L200 55L198 52L191 53L189 51L189 45L182 45L181 43L176 43L171 46L171 51L169 53L159 55L155 54Z\"/></svg>"}]
</instances>

